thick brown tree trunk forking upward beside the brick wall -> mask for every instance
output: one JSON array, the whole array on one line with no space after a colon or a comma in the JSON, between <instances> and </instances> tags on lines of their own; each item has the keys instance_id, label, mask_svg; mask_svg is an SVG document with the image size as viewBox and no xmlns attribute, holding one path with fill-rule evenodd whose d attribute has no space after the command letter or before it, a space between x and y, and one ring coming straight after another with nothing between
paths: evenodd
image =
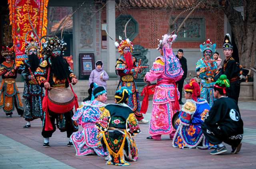
<instances>
[{"instance_id":1,"label":"thick brown tree trunk forking upward beside the brick wall","mask_svg":"<svg viewBox=\"0 0 256 169\"><path fill-rule=\"evenodd\" d=\"M226 2L222 11L226 14L234 33L240 64L249 69L256 67L256 1L245 0L244 20L240 12L234 10L233 3Z\"/></svg>"}]
</instances>

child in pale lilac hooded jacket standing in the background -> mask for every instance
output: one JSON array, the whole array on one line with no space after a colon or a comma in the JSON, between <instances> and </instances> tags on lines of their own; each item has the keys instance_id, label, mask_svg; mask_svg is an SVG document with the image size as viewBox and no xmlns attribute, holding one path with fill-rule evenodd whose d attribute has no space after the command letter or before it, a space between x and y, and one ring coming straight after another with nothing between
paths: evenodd
<instances>
[{"instance_id":1,"label":"child in pale lilac hooded jacket standing in the background","mask_svg":"<svg viewBox=\"0 0 256 169\"><path fill-rule=\"evenodd\" d=\"M96 61L95 69L92 70L89 77L89 86L91 83L95 82L98 86L103 86L107 90L106 81L108 78L108 74L103 70L103 62L100 60Z\"/></svg>"}]
</instances>

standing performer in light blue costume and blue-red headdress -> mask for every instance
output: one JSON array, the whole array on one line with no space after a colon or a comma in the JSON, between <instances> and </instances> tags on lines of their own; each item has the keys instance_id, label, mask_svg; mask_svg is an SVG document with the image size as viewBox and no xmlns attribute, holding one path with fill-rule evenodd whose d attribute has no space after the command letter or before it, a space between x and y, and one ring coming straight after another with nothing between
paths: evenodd
<instances>
[{"instance_id":1,"label":"standing performer in light blue costume and blue-red headdress","mask_svg":"<svg viewBox=\"0 0 256 169\"><path fill-rule=\"evenodd\" d=\"M214 83L206 81L206 78L211 77L217 71L217 63L211 59L212 53L216 51L215 47L216 44L214 43L212 45L210 39L208 39L206 43L204 42L204 45L200 44L200 51L204 57L196 63L196 71L199 69L199 77L202 79L202 82L200 83L200 97L207 100L210 107L214 101L212 92Z\"/></svg>"}]
</instances>

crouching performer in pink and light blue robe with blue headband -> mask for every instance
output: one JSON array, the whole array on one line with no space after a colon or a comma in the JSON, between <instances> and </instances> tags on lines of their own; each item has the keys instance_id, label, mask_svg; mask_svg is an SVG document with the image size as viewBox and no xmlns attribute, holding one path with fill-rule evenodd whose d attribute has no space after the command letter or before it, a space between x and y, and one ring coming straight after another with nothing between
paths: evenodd
<instances>
[{"instance_id":1,"label":"crouching performer in pink and light blue robe with blue headband","mask_svg":"<svg viewBox=\"0 0 256 169\"><path fill-rule=\"evenodd\" d=\"M94 88L92 90L92 88ZM76 155L88 155L96 153L98 156L106 156L108 152L103 150L103 147L98 147L98 128L95 124L99 120L99 115L102 113L107 100L107 91L104 87L96 83L91 83L89 90L92 90L92 100L82 102L80 108L72 117L78 124L83 127L81 132L75 132L70 136Z\"/></svg>"}]
</instances>

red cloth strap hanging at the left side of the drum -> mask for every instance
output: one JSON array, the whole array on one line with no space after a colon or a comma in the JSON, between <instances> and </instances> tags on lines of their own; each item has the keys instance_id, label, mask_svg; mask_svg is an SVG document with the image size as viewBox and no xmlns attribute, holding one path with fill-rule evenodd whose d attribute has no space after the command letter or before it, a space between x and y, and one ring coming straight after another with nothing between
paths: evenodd
<instances>
[{"instance_id":1,"label":"red cloth strap hanging at the left side of the drum","mask_svg":"<svg viewBox=\"0 0 256 169\"><path fill-rule=\"evenodd\" d=\"M47 81L49 81L49 75L50 75L50 66L48 67ZM45 96L44 96L43 102L42 102L42 109L45 112L44 130L45 131L50 131L50 130L53 130L53 128L52 128L52 124L51 124L51 121L50 121L50 118L49 118L47 98L48 98L48 90L46 89Z\"/></svg>"}]
</instances>

